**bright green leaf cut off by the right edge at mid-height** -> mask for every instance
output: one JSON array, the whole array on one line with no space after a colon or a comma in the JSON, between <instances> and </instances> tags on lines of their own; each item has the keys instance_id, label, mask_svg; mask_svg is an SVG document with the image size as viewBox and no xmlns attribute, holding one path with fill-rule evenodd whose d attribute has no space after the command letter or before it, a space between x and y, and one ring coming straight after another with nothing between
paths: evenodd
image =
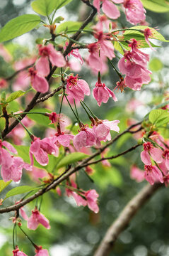
<instances>
[{"instance_id":1,"label":"bright green leaf cut off by the right edge at mid-height","mask_svg":"<svg viewBox=\"0 0 169 256\"><path fill-rule=\"evenodd\" d=\"M149 114L149 121L159 127L169 122L168 110L152 110Z\"/></svg>"}]
</instances>

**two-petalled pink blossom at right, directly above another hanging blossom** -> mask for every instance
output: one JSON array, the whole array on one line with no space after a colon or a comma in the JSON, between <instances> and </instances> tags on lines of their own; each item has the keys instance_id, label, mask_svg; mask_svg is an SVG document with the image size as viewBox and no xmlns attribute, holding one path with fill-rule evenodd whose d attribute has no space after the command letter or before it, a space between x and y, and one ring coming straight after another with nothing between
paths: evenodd
<instances>
[{"instance_id":1,"label":"two-petalled pink blossom at right, directly above another hanging blossom","mask_svg":"<svg viewBox=\"0 0 169 256\"><path fill-rule=\"evenodd\" d=\"M163 151L161 151L161 149L154 147L151 142L146 142L143 146L144 151L141 152L141 161L143 161L144 164L151 165L151 158L157 163L161 163L163 161Z\"/></svg>"}]
</instances>

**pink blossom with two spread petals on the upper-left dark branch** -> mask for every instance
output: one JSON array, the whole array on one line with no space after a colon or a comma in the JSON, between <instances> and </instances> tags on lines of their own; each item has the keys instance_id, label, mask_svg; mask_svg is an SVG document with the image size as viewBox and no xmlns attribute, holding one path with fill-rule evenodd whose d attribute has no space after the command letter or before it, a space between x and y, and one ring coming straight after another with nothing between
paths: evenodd
<instances>
[{"instance_id":1,"label":"pink blossom with two spread petals on the upper-left dark branch","mask_svg":"<svg viewBox=\"0 0 169 256\"><path fill-rule=\"evenodd\" d=\"M41 57L37 60L35 67L37 72L42 76L47 76L50 73L49 61L52 65L56 65L59 68L66 65L64 56L62 53L55 50L52 44L48 46L39 45L39 55Z\"/></svg>"}]
</instances>

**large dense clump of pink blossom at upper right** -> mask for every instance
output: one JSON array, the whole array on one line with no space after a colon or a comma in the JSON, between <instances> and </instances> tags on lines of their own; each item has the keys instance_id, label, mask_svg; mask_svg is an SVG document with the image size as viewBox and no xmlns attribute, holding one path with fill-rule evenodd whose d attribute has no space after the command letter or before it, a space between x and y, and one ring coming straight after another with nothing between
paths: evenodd
<instances>
[{"instance_id":1,"label":"large dense clump of pink blossom at upper right","mask_svg":"<svg viewBox=\"0 0 169 256\"><path fill-rule=\"evenodd\" d=\"M148 84L151 78L148 74L151 71L147 69L149 55L142 53L141 50L132 48L124 50L124 57L120 59L118 68L120 73L125 74L124 85L132 90L141 90L143 84Z\"/></svg>"}]
</instances>

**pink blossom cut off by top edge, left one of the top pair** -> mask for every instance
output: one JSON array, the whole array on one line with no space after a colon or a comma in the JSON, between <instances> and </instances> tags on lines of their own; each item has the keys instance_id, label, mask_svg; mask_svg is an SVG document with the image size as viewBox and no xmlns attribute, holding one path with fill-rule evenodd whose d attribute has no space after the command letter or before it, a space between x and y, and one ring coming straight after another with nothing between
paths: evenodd
<instances>
[{"instance_id":1,"label":"pink blossom cut off by top edge, left one of the top pair","mask_svg":"<svg viewBox=\"0 0 169 256\"><path fill-rule=\"evenodd\" d=\"M120 17L120 11L117 9L115 4L122 4L123 2L124 0L94 0L93 6L95 6L98 13L100 13L100 4L102 4L104 14L106 14L109 18L117 19Z\"/></svg>"}]
</instances>

